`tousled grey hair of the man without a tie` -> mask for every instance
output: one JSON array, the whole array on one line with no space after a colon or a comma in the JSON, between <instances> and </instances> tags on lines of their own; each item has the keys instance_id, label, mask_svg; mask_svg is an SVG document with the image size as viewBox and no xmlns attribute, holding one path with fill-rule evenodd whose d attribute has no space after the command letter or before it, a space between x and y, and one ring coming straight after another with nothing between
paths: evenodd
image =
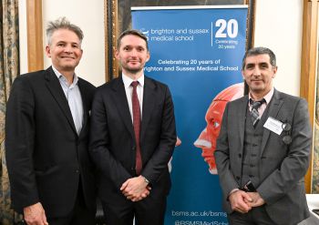
<instances>
[{"instance_id":1,"label":"tousled grey hair of the man without a tie","mask_svg":"<svg viewBox=\"0 0 319 225\"><path fill-rule=\"evenodd\" d=\"M51 45L51 37L53 33L59 29L67 29L76 33L80 43L83 40L83 32L80 27L71 24L66 17L58 18L55 21L50 21L46 27L47 44Z\"/></svg>"}]
</instances>

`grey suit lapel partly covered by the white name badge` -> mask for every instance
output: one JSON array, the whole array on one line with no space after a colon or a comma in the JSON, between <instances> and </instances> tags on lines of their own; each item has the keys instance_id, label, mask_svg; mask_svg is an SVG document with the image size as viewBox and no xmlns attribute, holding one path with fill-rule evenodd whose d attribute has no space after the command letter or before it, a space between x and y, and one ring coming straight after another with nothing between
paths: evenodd
<instances>
[{"instance_id":1,"label":"grey suit lapel partly covered by the white name badge","mask_svg":"<svg viewBox=\"0 0 319 225\"><path fill-rule=\"evenodd\" d=\"M278 115L279 109L282 107L282 105L283 105L283 100L280 97L280 93L276 89L274 89L273 99L271 100L269 105L268 118L269 117L276 118ZM261 156L266 146L266 143L268 141L268 138L270 136L270 133L271 131L268 128L263 129Z\"/></svg>"}]
</instances>

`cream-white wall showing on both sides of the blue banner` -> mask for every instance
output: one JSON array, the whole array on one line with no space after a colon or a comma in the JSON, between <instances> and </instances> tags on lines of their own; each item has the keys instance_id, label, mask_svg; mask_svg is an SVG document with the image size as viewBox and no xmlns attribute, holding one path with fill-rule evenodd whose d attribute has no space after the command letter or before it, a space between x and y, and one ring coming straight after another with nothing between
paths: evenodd
<instances>
[{"instance_id":1,"label":"cream-white wall showing on both sides of the blue banner","mask_svg":"<svg viewBox=\"0 0 319 225\"><path fill-rule=\"evenodd\" d=\"M20 7L26 7L19 1ZM26 30L26 11L20 10L20 29ZM77 74L98 86L105 82L104 66L104 1L95 0L43 0L43 25L59 16L67 18L84 32L84 55L77 67ZM279 66L274 86L299 96L301 43L303 26L303 1L257 0L254 46L267 46L277 56ZM25 32L26 33L26 32ZM21 73L26 73L26 34L20 35ZM44 32L44 43L46 36ZM50 61L45 56L45 66Z\"/></svg>"}]
</instances>

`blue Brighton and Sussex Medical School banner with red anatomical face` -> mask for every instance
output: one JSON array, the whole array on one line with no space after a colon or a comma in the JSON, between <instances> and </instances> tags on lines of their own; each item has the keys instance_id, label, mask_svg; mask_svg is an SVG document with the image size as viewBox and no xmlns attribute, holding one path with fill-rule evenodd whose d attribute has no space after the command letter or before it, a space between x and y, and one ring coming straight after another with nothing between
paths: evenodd
<instances>
[{"instance_id":1,"label":"blue Brighton and Sussex Medical School banner with red anatomical face","mask_svg":"<svg viewBox=\"0 0 319 225\"><path fill-rule=\"evenodd\" d=\"M132 8L149 38L144 73L170 87L181 145L165 224L228 224L213 159L227 101L242 96L247 6Z\"/></svg>"}]
</instances>

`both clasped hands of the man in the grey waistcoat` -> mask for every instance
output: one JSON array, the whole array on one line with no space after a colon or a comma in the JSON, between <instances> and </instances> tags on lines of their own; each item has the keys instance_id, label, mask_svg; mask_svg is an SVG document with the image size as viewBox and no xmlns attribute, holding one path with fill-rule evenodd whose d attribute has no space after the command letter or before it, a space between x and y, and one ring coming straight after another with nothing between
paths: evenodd
<instances>
[{"instance_id":1,"label":"both clasped hands of the man in the grey waistcoat","mask_svg":"<svg viewBox=\"0 0 319 225\"><path fill-rule=\"evenodd\" d=\"M262 206L265 202L258 192L245 192L236 190L229 196L232 205L232 210L246 213L252 210L253 207Z\"/></svg>"}]
</instances>

